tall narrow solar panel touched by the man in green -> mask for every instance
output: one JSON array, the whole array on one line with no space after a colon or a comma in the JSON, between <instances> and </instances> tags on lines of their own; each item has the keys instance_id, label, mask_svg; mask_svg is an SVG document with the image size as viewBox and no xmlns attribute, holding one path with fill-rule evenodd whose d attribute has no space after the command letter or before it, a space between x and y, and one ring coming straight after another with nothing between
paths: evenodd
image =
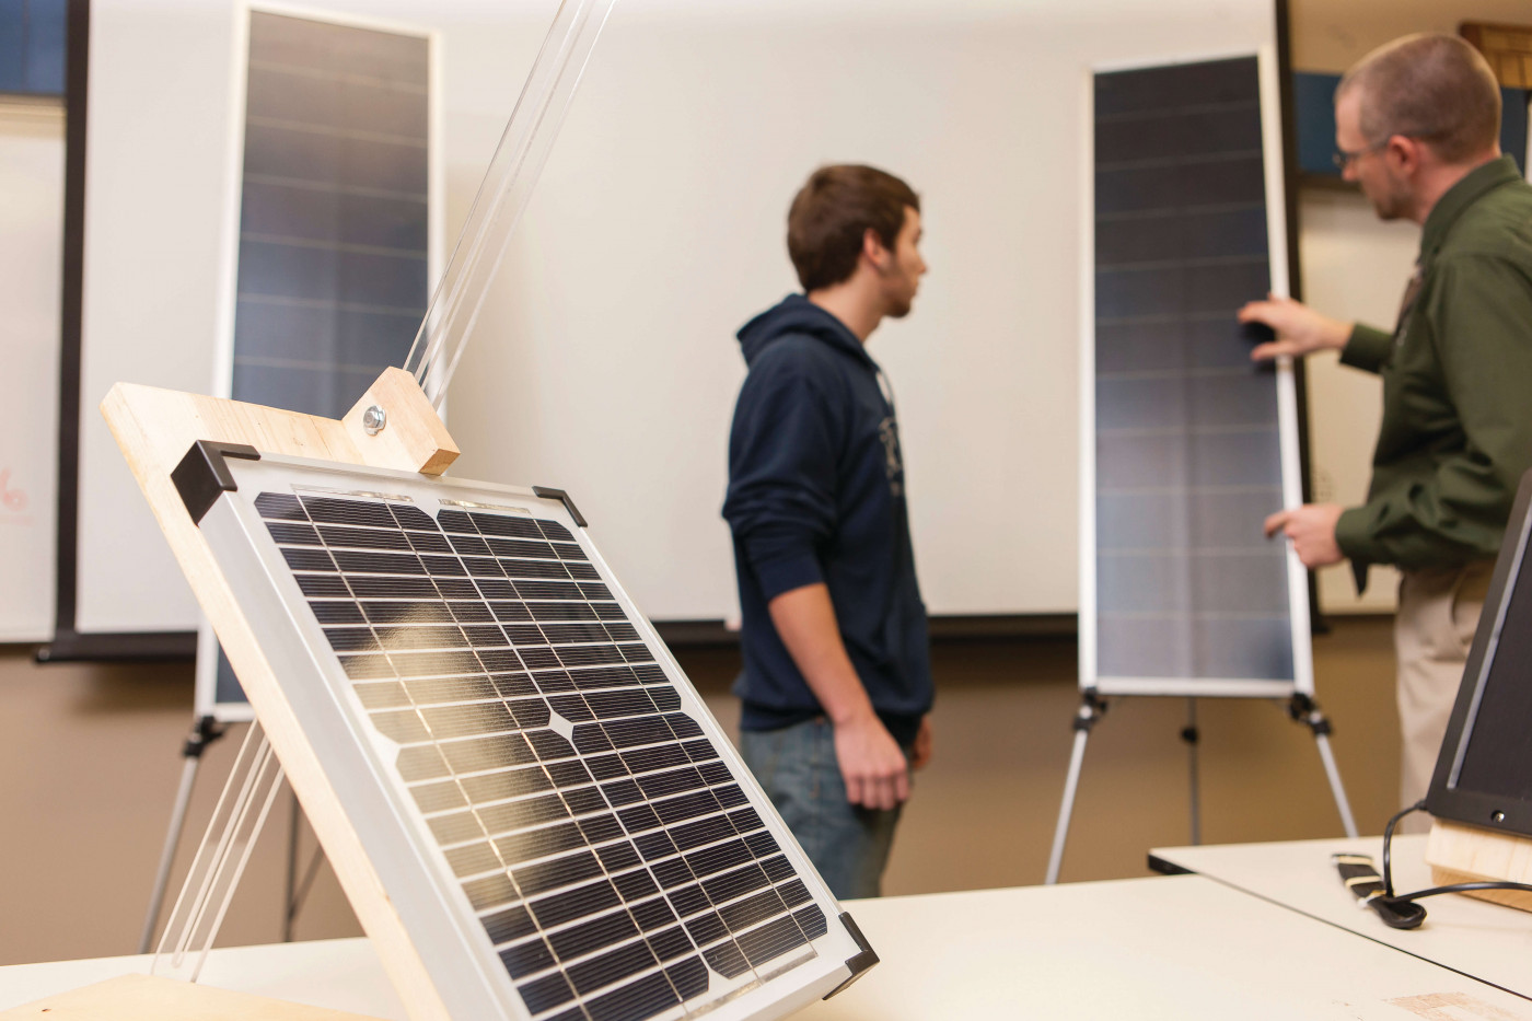
<instances>
[{"instance_id":1,"label":"tall narrow solar panel touched by the man in green","mask_svg":"<svg viewBox=\"0 0 1532 1021\"><path fill-rule=\"evenodd\" d=\"M1082 687L1311 690L1288 368L1235 319L1285 293L1275 80L1255 55L1098 72L1085 357Z\"/></svg>"}]
</instances>

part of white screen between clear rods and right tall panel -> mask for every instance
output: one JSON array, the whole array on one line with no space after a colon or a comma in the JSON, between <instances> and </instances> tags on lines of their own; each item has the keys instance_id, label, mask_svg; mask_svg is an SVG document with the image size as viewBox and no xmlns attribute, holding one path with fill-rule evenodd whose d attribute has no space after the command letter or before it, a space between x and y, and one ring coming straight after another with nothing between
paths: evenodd
<instances>
[{"instance_id":1,"label":"part of white screen between clear rods and right tall panel","mask_svg":"<svg viewBox=\"0 0 1532 1021\"><path fill-rule=\"evenodd\" d=\"M1255 49L1272 6L835 6L617 8L486 313L507 342L472 346L453 386L463 472L571 492L656 616L731 615L734 331L795 290L784 219L807 173L872 163L922 195L930 273L869 353L898 399L925 602L1072 612L1080 75Z\"/></svg>"}]
</instances>

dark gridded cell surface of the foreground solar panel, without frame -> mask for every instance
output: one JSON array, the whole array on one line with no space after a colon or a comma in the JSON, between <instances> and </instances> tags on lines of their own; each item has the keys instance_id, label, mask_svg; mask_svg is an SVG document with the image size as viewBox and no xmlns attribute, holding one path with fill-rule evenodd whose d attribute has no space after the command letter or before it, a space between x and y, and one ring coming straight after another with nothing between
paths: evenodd
<instances>
[{"instance_id":1,"label":"dark gridded cell surface of the foreground solar panel, without frame","mask_svg":"<svg viewBox=\"0 0 1532 1021\"><path fill-rule=\"evenodd\" d=\"M446 563L495 564L472 555L481 535L532 555L552 547L501 537L558 535L571 549L529 563L582 563L568 530L486 512L432 520L381 498L267 492L256 506L294 570L339 581L311 596L316 618L372 727L400 745L395 768L529 1010L579 1000L591 1016L653 1016L706 990L703 960L738 977L823 934L637 627L599 622L596 606L624 618L605 584L527 604L492 596L548 583L481 592ZM441 523L464 529L435 532L450 552L391 552ZM463 624L473 616L525 622ZM688 992L671 987L680 980Z\"/></svg>"}]
</instances>

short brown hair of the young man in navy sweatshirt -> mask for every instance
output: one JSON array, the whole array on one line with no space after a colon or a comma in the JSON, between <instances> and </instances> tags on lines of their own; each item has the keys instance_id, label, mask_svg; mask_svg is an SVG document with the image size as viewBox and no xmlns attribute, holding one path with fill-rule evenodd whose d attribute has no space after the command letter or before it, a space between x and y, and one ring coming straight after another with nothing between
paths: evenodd
<instances>
[{"instance_id":1,"label":"short brown hair of the young man in navy sweatshirt","mask_svg":"<svg viewBox=\"0 0 1532 1021\"><path fill-rule=\"evenodd\" d=\"M919 212L921 199L892 173L853 164L815 170L787 210L787 254L803 290L850 277L869 228L893 248L905 207Z\"/></svg>"}]
</instances>

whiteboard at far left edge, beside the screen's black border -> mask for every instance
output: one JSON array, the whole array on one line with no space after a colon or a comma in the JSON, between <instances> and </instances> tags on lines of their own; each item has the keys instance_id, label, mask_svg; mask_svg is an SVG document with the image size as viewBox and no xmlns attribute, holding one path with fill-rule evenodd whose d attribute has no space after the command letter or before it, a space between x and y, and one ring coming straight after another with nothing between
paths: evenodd
<instances>
[{"instance_id":1,"label":"whiteboard at far left edge, beside the screen's black border","mask_svg":"<svg viewBox=\"0 0 1532 1021\"><path fill-rule=\"evenodd\" d=\"M0 642L54 635L64 110L0 98Z\"/></svg>"}]
</instances>

